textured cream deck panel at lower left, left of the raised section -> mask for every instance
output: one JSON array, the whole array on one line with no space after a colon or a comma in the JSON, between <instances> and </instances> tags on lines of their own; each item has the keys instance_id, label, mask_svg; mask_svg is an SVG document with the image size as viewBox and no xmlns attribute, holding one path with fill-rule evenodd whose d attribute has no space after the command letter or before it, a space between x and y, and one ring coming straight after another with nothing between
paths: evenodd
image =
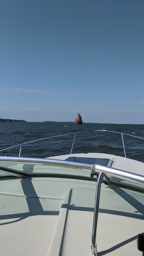
<instances>
[{"instance_id":1,"label":"textured cream deck panel at lower left, left of the raised section","mask_svg":"<svg viewBox=\"0 0 144 256\"><path fill-rule=\"evenodd\" d=\"M46 256L64 195L77 186L95 184L57 178L1 180L0 255Z\"/></svg>"}]
</instances>

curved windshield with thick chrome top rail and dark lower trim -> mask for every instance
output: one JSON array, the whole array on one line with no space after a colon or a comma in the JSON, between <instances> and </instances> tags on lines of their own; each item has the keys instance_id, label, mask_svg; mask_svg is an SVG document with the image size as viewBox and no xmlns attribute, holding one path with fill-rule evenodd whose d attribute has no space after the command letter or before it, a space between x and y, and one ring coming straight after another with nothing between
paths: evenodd
<instances>
[{"instance_id":1,"label":"curved windshield with thick chrome top rail and dark lower trim","mask_svg":"<svg viewBox=\"0 0 144 256\"><path fill-rule=\"evenodd\" d=\"M144 176L131 173L129 171L123 171L119 169L114 169L112 167L98 165L98 164L90 164L84 162L73 162L66 160L57 160L51 158L32 158L32 157L0 157L0 165L1 163L5 163L5 165L9 165L12 163L19 165L30 165L34 164L34 166L42 166L42 172L36 170L35 172L31 171L30 173L19 171L18 169L13 169L9 167L0 166L0 170L2 173L8 173L9 175L13 175L17 178L27 178L27 177L57 177L57 178L69 178L69 179L81 179L81 180L93 180L96 181L99 172L104 173L105 180L103 182L105 184L116 184L118 186L127 187L131 189L136 189L144 192ZM11 166L11 167L12 167ZM15 166L15 165L14 165ZM45 172L46 166L49 166L50 172ZM52 168L53 167L53 168ZM58 167L61 167L59 169ZM63 168L65 167L65 168ZM22 167L21 167L22 169ZM58 170L57 170L58 169ZM24 169L26 170L26 168ZM61 170L62 172L59 172ZM54 171L54 172L53 172ZM74 172L73 172L74 171ZM85 175L86 174L86 175ZM95 177L94 177L95 175ZM133 187L135 184L129 183L117 183L116 181L111 181L111 178L107 177L107 175L111 175L112 177L116 177L119 179L129 180L130 182L134 182L136 184L142 184L142 187ZM0 178L6 178L1 176ZM10 178L10 176L7 176ZM107 179L108 178L108 179Z\"/></svg>"}]
</instances>

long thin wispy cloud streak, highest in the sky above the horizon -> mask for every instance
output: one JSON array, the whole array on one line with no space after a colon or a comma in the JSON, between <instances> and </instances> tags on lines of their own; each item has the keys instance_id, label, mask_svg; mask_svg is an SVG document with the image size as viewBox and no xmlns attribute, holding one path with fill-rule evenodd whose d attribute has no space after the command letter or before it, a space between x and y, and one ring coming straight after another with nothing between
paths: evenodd
<instances>
[{"instance_id":1,"label":"long thin wispy cloud streak, highest in the sky above the horizon","mask_svg":"<svg viewBox=\"0 0 144 256\"><path fill-rule=\"evenodd\" d=\"M87 93L75 93L75 92L61 92L61 91L49 91L49 90L35 90L35 89L23 89L18 87L12 87L12 90L16 92L22 92L22 93L57 93L57 94L78 94L78 95L88 95Z\"/></svg>"}]
</instances>

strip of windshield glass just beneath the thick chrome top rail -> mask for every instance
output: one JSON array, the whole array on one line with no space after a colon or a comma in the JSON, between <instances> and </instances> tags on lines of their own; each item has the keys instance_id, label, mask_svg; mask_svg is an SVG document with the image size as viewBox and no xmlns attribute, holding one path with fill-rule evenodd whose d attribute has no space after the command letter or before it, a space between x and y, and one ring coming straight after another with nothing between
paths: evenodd
<instances>
[{"instance_id":1,"label":"strip of windshield glass just beneath the thick chrome top rail","mask_svg":"<svg viewBox=\"0 0 144 256\"><path fill-rule=\"evenodd\" d=\"M21 162L0 162L0 178L13 178L13 177L62 177L62 178L75 178L85 180L96 180L90 177L91 169L80 168L76 166L64 166L49 163L21 163ZM107 178L112 184L117 184L123 187L129 187L144 191L144 185L131 182L129 180L120 179L107 174ZM106 177L104 180L107 181Z\"/></svg>"}]
</instances>

